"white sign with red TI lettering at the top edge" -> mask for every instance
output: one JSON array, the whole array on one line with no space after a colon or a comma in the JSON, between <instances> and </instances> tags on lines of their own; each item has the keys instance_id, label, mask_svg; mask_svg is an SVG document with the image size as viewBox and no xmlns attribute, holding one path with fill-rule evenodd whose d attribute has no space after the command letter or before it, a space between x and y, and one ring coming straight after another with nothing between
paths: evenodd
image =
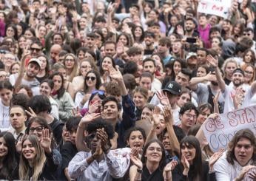
<instances>
[{"instance_id":1,"label":"white sign with red TI lettering at the top edge","mask_svg":"<svg viewBox=\"0 0 256 181\"><path fill-rule=\"evenodd\" d=\"M227 18L232 0L202 0L198 3L198 12Z\"/></svg>"}]
</instances>

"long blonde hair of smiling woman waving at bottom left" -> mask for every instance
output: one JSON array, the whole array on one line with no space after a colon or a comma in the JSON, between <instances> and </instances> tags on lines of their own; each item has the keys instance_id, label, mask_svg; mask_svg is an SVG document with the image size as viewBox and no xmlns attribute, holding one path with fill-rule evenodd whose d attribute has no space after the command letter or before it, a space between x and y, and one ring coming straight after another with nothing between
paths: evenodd
<instances>
[{"instance_id":1,"label":"long blonde hair of smiling woman waving at bottom left","mask_svg":"<svg viewBox=\"0 0 256 181\"><path fill-rule=\"evenodd\" d=\"M33 174L31 178L32 180L38 180L38 177L44 168L44 163L47 160L47 158L45 157L44 149L41 147L39 143L38 137L36 137L35 135L27 135L27 137L24 137L24 140L22 141L22 146L25 140L29 140L36 150L36 157L33 160L32 166ZM30 165L28 163L28 160L22 154L22 149L23 148L21 148L21 158L18 169L19 180L30 180Z\"/></svg>"}]
</instances>

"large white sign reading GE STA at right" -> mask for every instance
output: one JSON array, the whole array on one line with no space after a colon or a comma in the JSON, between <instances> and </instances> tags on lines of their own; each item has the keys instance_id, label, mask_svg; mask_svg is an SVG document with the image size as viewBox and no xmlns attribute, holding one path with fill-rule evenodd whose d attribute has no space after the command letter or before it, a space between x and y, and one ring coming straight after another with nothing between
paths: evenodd
<instances>
[{"instance_id":1,"label":"large white sign reading GE STA at right","mask_svg":"<svg viewBox=\"0 0 256 181\"><path fill-rule=\"evenodd\" d=\"M256 106L224 113L215 120L208 118L203 123L203 132L212 151L225 148L240 129L251 129L256 135Z\"/></svg>"}]
</instances>

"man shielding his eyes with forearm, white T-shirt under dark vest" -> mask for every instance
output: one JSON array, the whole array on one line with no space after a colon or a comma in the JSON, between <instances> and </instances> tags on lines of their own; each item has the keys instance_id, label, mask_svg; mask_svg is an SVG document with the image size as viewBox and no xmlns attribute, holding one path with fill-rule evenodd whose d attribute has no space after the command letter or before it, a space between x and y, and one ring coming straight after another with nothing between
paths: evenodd
<instances>
[{"instance_id":1,"label":"man shielding his eyes with forearm, white T-shirt under dark vest","mask_svg":"<svg viewBox=\"0 0 256 181\"><path fill-rule=\"evenodd\" d=\"M209 81L209 85L203 83L205 81ZM220 87L218 86L218 81L215 75L215 69L210 67L209 74L206 76L192 78L191 81L189 81L189 88L196 93L198 97L198 105L210 103L212 107L214 107L213 97L218 95L218 92L220 92ZM221 92L218 98L218 104L219 112L222 113L224 108L224 98Z\"/></svg>"}]
</instances>

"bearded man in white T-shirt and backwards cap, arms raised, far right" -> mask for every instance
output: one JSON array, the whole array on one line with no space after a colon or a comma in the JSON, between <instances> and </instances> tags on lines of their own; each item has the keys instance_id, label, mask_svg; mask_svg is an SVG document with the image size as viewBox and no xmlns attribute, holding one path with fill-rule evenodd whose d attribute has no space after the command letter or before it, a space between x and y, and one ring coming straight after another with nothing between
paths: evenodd
<instances>
[{"instance_id":1,"label":"bearded man in white T-shirt and backwards cap, arms raised, far right","mask_svg":"<svg viewBox=\"0 0 256 181\"><path fill-rule=\"evenodd\" d=\"M224 113L234 111L234 109L249 106L250 100L256 93L256 81L254 81L249 89L243 89L244 72L242 69L235 69L232 75L232 84L227 86L223 77L221 76L220 69L218 68L218 59L213 58L211 55L207 56L209 64L215 67L216 78L220 90L225 99ZM236 98L240 97L240 100Z\"/></svg>"}]
</instances>

